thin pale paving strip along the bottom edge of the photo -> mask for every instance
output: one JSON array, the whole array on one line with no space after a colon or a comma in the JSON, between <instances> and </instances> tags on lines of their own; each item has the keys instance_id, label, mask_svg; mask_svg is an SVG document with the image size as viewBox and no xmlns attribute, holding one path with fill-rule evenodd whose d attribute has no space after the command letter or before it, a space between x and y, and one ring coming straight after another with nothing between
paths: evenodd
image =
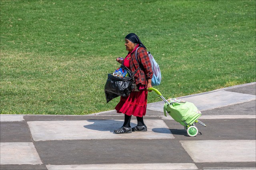
<instances>
[{"instance_id":1,"label":"thin pale paving strip along the bottom edge of the photo","mask_svg":"<svg viewBox=\"0 0 256 170\"><path fill-rule=\"evenodd\" d=\"M195 164L84 164L84 165L46 165L48 170L197 170Z\"/></svg>"}]
</instances>

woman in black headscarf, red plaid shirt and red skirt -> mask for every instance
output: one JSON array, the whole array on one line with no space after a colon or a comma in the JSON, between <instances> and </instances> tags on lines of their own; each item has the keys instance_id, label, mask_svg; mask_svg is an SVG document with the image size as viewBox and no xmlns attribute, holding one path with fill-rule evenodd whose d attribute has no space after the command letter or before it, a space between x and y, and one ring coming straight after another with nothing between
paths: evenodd
<instances>
[{"instance_id":1,"label":"woman in black headscarf, red plaid shirt and red skirt","mask_svg":"<svg viewBox=\"0 0 256 170\"><path fill-rule=\"evenodd\" d=\"M125 37L125 47L128 51L128 55L121 61L117 58L118 63L124 64L132 72L140 67L134 75L136 86L138 91L131 92L129 96L120 98L120 102L115 107L117 113L124 113L124 124L119 129L116 129L115 133L132 133L132 131L147 131L147 127L144 124L143 116L146 114L148 88L152 87L151 79L153 76L152 67L146 47L142 44L139 37L130 33ZM137 51L138 62L136 61L135 51ZM135 127L130 126L130 120L132 115L136 116L138 124Z\"/></svg>"}]
</instances>

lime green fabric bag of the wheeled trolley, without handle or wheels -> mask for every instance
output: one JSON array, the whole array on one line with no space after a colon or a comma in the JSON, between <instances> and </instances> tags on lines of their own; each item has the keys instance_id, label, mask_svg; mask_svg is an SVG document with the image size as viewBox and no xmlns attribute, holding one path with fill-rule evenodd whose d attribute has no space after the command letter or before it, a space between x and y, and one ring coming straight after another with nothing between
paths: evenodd
<instances>
[{"instance_id":1,"label":"lime green fabric bag of the wheeled trolley, without handle or wheels","mask_svg":"<svg viewBox=\"0 0 256 170\"><path fill-rule=\"evenodd\" d=\"M183 126L186 126L186 123L188 125L192 125L196 119L202 115L198 108L190 102L175 102L170 105L165 103L165 116L167 116L166 111L175 121L179 122ZM184 121L186 123L184 123Z\"/></svg>"}]
</instances>

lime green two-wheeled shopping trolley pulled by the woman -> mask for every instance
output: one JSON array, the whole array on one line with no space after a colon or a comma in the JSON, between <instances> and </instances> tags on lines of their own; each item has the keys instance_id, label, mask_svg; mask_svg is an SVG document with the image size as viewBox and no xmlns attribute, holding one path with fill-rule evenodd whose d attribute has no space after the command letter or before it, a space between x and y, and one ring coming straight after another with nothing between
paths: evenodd
<instances>
[{"instance_id":1,"label":"lime green two-wheeled shopping trolley pulled by the woman","mask_svg":"<svg viewBox=\"0 0 256 170\"><path fill-rule=\"evenodd\" d=\"M198 120L198 117L200 117L202 113L193 103L176 98L166 100L157 89L148 88L148 90L153 90L164 100L164 115L167 116L167 112L175 121L183 125L190 137L194 137L198 134L196 123L206 127L202 121Z\"/></svg>"}]
</instances>

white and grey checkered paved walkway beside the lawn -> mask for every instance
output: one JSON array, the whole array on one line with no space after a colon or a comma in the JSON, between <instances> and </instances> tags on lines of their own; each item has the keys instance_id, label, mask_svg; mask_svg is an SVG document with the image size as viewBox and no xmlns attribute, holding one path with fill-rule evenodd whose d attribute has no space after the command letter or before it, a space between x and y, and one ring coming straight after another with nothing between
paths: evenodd
<instances>
[{"instance_id":1,"label":"white and grey checkered paved walkway beside the lawn","mask_svg":"<svg viewBox=\"0 0 256 170\"><path fill-rule=\"evenodd\" d=\"M0 115L0 169L255 169L255 82L183 99L202 110L207 127L197 124L196 137L163 116L162 102L148 105L147 132L121 135L113 133L123 120L115 111Z\"/></svg>"}]
</instances>

